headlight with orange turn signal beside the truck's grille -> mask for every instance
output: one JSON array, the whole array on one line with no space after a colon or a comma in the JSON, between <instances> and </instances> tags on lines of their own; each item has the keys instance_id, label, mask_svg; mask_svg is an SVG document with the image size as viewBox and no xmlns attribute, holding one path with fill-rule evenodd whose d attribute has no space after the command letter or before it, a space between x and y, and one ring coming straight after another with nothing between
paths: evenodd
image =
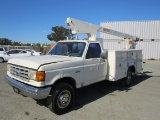
<instances>
[{"instance_id":1,"label":"headlight with orange turn signal beside the truck's grille","mask_svg":"<svg viewBox=\"0 0 160 120\"><path fill-rule=\"evenodd\" d=\"M44 71L35 71L29 70L28 77L30 80L36 80L38 82L45 80L45 72Z\"/></svg>"}]
</instances>

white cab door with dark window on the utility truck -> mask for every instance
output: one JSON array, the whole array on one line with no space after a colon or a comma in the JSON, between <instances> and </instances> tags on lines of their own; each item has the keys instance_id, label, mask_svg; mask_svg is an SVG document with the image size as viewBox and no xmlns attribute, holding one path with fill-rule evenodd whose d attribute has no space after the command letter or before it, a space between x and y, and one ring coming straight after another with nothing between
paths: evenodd
<instances>
[{"instance_id":1,"label":"white cab door with dark window on the utility truck","mask_svg":"<svg viewBox=\"0 0 160 120\"><path fill-rule=\"evenodd\" d=\"M90 43L84 59L84 85L98 82L105 79L106 62L101 55L99 43Z\"/></svg>"}]
</instances>

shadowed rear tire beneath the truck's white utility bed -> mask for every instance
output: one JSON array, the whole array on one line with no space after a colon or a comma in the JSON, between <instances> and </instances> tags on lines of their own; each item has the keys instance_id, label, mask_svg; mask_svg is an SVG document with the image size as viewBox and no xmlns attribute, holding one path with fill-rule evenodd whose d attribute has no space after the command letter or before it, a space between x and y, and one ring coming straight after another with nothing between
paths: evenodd
<instances>
[{"instance_id":1,"label":"shadowed rear tire beneath the truck's white utility bed","mask_svg":"<svg viewBox=\"0 0 160 120\"><path fill-rule=\"evenodd\" d=\"M131 85L132 81L133 81L132 70L131 70L131 68L128 68L127 76L124 79L122 79L120 83L123 86L129 86L129 85Z\"/></svg>"}]
</instances>

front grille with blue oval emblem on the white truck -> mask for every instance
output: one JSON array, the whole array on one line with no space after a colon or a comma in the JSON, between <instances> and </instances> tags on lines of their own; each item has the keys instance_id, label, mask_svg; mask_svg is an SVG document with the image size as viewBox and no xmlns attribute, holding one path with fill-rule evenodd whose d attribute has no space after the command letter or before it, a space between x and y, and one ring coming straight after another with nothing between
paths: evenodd
<instances>
[{"instance_id":1,"label":"front grille with blue oval emblem on the white truck","mask_svg":"<svg viewBox=\"0 0 160 120\"><path fill-rule=\"evenodd\" d=\"M10 65L10 73L16 78L28 81L28 72L28 68L24 68L17 65Z\"/></svg>"}]
</instances>

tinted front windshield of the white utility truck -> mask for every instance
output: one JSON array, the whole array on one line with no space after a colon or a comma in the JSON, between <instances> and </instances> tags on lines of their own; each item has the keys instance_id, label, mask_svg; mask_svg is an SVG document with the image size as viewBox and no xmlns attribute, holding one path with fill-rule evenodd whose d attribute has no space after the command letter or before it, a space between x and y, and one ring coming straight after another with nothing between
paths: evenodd
<instances>
[{"instance_id":1,"label":"tinted front windshield of the white utility truck","mask_svg":"<svg viewBox=\"0 0 160 120\"><path fill-rule=\"evenodd\" d=\"M49 51L50 55L81 57L85 48L83 42L59 42Z\"/></svg>"}]
</instances>

